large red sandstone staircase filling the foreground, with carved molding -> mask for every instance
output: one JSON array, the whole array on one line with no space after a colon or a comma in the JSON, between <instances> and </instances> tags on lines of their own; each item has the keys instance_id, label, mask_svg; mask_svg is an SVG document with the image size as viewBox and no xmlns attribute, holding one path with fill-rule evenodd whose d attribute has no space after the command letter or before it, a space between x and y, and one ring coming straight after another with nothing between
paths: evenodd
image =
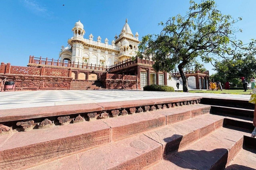
<instances>
[{"instance_id":1,"label":"large red sandstone staircase filling the foreground, with carved molding","mask_svg":"<svg viewBox=\"0 0 256 170\"><path fill-rule=\"evenodd\" d=\"M244 143L253 143L247 137L252 119L210 113L211 106L199 104L200 100L165 98L0 110L0 123L6 129L12 127L0 135L0 169L232 167L248 154ZM248 151L251 168L256 168L255 151Z\"/></svg>"}]
</instances>

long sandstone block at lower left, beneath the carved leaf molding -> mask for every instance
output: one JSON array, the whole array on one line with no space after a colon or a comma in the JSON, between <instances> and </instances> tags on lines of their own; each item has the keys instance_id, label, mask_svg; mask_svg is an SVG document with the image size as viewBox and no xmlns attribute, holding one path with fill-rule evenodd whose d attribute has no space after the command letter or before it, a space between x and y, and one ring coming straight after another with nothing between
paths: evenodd
<instances>
[{"instance_id":1,"label":"long sandstone block at lower left, beneath the carved leaf molding","mask_svg":"<svg viewBox=\"0 0 256 170\"><path fill-rule=\"evenodd\" d=\"M0 167L23 168L109 142L110 128L100 120L12 133L0 144Z\"/></svg>"}]
</instances>

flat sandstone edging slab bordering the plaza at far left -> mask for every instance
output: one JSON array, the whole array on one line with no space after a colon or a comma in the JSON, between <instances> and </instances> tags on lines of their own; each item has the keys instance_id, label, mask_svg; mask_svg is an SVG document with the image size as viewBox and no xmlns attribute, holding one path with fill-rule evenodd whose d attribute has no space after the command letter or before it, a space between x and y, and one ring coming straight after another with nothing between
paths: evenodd
<instances>
[{"instance_id":1,"label":"flat sandstone edging slab bordering the plaza at far left","mask_svg":"<svg viewBox=\"0 0 256 170\"><path fill-rule=\"evenodd\" d=\"M0 122L102 111L95 103L0 110Z\"/></svg>"}]
</instances>

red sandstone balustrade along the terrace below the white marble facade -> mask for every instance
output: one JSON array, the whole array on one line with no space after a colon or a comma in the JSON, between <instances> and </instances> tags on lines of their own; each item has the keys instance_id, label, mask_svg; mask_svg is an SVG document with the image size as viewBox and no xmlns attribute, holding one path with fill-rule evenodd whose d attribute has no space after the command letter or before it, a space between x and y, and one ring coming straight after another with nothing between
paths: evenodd
<instances>
[{"instance_id":1,"label":"red sandstone balustrade along the terrace below the white marble facade","mask_svg":"<svg viewBox=\"0 0 256 170\"><path fill-rule=\"evenodd\" d=\"M90 70L101 70L105 71L109 67L103 65L96 65L96 64L88 64L88 63L79 63L79 62L70 62L67 60L54 60L48 58L38 58L34 56L29 56L29 66L33 65L42 65L42 66L56 66L56 67L68 67L68 68L80 68L80 69L90 69Z\"/></svg>"}]
</instances>

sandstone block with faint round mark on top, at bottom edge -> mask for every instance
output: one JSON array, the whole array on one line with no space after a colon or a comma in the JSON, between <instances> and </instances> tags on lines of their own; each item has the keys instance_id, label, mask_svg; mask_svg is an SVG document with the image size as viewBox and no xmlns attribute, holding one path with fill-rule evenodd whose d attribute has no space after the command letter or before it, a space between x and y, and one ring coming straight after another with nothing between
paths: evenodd
<instances>
[{"instance_id":1,"label":"sandstone block with faint round mark on top, at bottom edge","mask_svg":"<svg viewBox=\"0 0 256 170\"><path fill-rule=\"evenodd\" d=\"M142 169L162 158L162 146L142 134L78 155L84 170Z\"/></svg>"}]
</instances>

